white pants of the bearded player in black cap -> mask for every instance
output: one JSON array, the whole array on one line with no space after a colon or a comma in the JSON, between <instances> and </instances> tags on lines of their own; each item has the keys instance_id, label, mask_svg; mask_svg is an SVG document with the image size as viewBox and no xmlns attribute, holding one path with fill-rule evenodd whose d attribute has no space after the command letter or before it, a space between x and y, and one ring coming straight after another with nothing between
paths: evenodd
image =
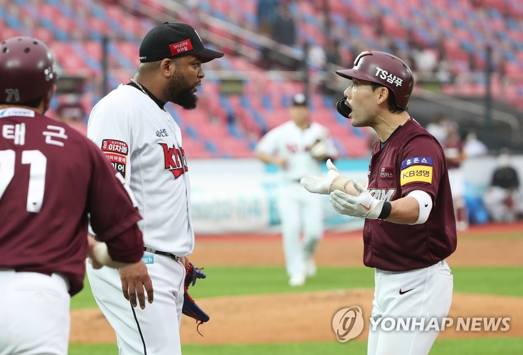
<instances>
[{"instance_id":1,"label":"white pants of the bearded player in black cap","mask_svg":"<svg viewBox=\"0 0 523 355\"><path fill-rule=\"evenodd\" d=\"M115 330L119 355L179 355L181 307L184 304L185 268L179 261L149 252L144 257L154 290L153 303L133 308L123 297L118 270L87 265L93 294Z\"/></svg>"}]
</instances>

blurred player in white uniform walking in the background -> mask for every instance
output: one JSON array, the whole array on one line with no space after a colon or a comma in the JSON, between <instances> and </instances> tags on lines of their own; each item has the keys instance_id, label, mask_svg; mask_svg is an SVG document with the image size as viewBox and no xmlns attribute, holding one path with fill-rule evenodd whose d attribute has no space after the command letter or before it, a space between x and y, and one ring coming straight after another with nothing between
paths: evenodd
<instances>
[{"instance_id":1,"label":"blurred player in white uniform walking in the background","mask_svg":"<svg viewBox=\"0 0 523 355\"><path fill-rule=\"evenodd\" d=\"M300 286L306 276L316 273L313 254L323 235L322 196L304 191L300 179L311 172L320 173L324 161L336 158L338 152L327 128L311 122L303 93L294 95L290 115L290 121L261 138L256 156L281 169L278 208L283 252L289 284Z\"/></svg>"}]
</instances>

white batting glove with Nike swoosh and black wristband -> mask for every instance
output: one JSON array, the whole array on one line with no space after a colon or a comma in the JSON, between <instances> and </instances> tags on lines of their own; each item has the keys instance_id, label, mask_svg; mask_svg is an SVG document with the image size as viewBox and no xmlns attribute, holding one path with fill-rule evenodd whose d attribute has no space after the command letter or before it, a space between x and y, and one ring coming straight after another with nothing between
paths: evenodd
<instances>
[{"instance_id":1,"label":"white batting glove with Nike swoosh and black wristband","mask_svg":"<svg viewBox=\"0 0 523 355\"><path fill-rule=\"evenodd\" d=\"M372 197L369 191L356 180L353 181L357 196L335 190L331 192L329 202L342 215L377 219L381 214L384 201Z\"/></svg>"}]
</instances>

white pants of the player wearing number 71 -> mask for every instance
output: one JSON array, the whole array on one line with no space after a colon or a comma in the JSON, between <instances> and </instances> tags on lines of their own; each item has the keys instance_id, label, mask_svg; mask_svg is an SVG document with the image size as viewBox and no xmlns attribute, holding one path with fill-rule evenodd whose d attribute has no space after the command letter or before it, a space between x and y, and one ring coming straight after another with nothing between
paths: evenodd
<instances>
[{"instance_id":1,"label":"white pants of the player wearing number 71","mask_svg":"<svg viewBox=\"0 0 523 355\"><path fill-rule=\"evenodd\" d=\"M67 355L67 279L0 269L0 285L0 355Z\"/></svg>"}]
</instances>

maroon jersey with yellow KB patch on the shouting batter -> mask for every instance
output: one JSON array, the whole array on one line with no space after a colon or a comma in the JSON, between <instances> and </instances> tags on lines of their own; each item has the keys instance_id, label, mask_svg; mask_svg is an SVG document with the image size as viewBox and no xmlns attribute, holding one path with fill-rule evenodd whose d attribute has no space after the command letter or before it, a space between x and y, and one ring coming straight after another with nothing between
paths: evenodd
<instances>
[{"instance_id":1,"label":"maroon jersey with yellow KB patch on the shouting batter","mask_svg":"<svg viewBox=\"0 0 523 355\"><path fill-rule=\"evenodd\" d=\"M414 190L428 193L433 209L423 224L366 219L363 228L363 263L387 271L427 267L456 250L456 221L441 146L415 120L398 128L380 149L372 149L369 164L370 194L393 201Z\"/></svg>"}]
</instances>

